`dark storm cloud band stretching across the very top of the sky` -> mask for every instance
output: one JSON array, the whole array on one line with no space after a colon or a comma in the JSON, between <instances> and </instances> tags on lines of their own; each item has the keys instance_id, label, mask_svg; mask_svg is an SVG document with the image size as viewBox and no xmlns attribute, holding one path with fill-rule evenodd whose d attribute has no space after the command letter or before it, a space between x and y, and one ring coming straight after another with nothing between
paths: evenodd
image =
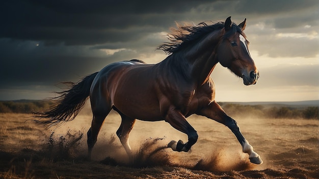
<instances>
[{"instance_id":1,"label":"dark storm cloud band stretching across the very top of the sky","mask_svg":"<svg viewBox=\"0 0 319 179\"><path fill-rule=\"evenodd\" d=\"M136 41L167 31L176 20L248 17L274 27L306 24L317 1L5 1L0 38L43 41L46 45L95 45ZM290 12L297 11L303 17ZM286 15L288 14L288 17ZM305 15L306 14L306 15ZM277 17L276 17L277 16ZM274 18L276 17L276 18ZM310 16L314 23L316 15ZM313 23L312 23L313 24Z\"/></svg>"}]
</instances>

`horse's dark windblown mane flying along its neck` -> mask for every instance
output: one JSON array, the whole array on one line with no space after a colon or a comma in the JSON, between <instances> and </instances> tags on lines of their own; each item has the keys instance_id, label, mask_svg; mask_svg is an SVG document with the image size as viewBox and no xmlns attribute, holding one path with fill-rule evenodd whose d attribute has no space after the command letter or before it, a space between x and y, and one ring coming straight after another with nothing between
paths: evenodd
<instances>
[{"instance_id":1,"label":"horse's dark windblown mane flying along its neck","mask_svg":"<svg viewBox=\"0 0 319 179\"><path fill-rule=\"evenodd\" d=\"M208 23L210 23L210 25ZM167 54L177 52L185 46L198 41L208 33L222 29L224 27L224 22L213 23L212 21L204 21L197 25L194 25L193 23L187 24L184 22L181 24L176 22L176 26L177 28L171 28L171 34L165 36L170 42L160 45L157 49L163 50ZM242 29L235 23L231 25L231 31L224 34L224 37L228 37L235 32L240 32L246 37Z\"/></svg>"}]
</instances>

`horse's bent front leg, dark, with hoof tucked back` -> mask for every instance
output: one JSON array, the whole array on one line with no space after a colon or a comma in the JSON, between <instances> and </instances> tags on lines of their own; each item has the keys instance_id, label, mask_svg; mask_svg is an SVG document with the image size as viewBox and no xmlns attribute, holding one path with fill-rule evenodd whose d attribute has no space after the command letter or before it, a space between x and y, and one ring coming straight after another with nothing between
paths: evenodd
<instances>
[{"instance_id":1,"label":"horse's bent front leg, dark, with hoof tucked back","mask_svg":"<svg viewBox=\"0 0 319 179\"><path fill-rule=\"evenodd\" d=\"M188 142L183 143L181 140L178 142L172 140L168 147L177 152L188 152L192 145L194 145L198 139L197 131L186 121L184 115L174 107L171 107L165 117L165 121L168 122L173 128L187 134Z\"/></svg>"}]
</instances>

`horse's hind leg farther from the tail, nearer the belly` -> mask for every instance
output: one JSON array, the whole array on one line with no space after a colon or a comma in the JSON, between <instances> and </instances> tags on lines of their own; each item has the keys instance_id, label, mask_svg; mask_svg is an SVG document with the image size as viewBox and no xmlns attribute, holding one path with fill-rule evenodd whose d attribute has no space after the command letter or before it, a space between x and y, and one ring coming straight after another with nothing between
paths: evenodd
<instances>
[{"instance_id":1,"label":"horse's hind leg farther from the tail, nearer the belly","mask_svg":"<svg viewBox=\"0 0 319 179\"><path fill-rule=\"evenodd\" d=\"M132 154L131 147L129 146L128 135L129 135L129 132L134 127L136 120L134 118L130 118L130 117L124 115L120 111L118 111L118 112L122 117L122 122L121 122L119 129L116 131L116 135L119 137L128 157L129 157L130 162L132 162L133 161L133 154Z\"/></svg>"}]
</instances>

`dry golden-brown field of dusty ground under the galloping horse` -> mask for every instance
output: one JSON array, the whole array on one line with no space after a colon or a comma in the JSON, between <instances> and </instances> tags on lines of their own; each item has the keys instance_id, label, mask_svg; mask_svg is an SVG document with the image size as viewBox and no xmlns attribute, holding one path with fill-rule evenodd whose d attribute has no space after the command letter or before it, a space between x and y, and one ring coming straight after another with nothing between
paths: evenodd
<instances>
[{"instance_id":1,"label":"dry golden-brown field of dusty ground under the galloping horse","mask_svg":"<svg viewBox=\"0 0 319 179\"><path fill-rule=\"evenodd\" d=\"M32 114L0 113L0 178L319 178L319 120L234 117L263 164L251 164L231 131L193 115L199 139L192 153L173 152L171 140L187 136L165 122L138 121L130 133L133 163L116 137L112 112L86 158L91 114L44 129Z\"/></svg>"}]
</instances>

